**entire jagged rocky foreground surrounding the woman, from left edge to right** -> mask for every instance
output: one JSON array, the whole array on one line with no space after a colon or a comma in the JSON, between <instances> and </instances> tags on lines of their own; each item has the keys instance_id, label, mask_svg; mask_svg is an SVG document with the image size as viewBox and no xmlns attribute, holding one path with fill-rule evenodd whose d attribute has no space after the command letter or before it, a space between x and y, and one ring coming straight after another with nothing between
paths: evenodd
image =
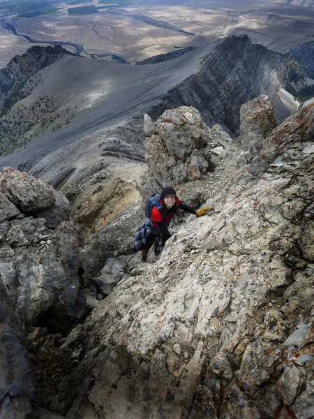
<instances>
[{"instance_id":1,"label":"entire jagged rocky foreground surrounding the woman, from left edge to right","mask_svg":"<svg viewBox=\"0 0 314 419\"><path fill-rule=\"evenodd\" d=\"M147 263L140 200L86 234L108 194L71 212L0 175L1 419L314 417L314 101L276 126L260 96L240 119L232 140L192 107L144 117L142 197L211 207Z\"/></svg>"}]
</instances>

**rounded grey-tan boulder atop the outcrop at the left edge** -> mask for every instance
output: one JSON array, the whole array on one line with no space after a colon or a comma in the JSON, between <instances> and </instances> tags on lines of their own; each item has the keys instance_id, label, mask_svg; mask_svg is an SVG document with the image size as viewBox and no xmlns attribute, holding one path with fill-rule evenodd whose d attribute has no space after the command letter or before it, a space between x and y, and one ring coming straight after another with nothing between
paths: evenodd
<instances>
[{"instance_id":1,"label":"rounded grey-tan boulder atop the outcrop at the left edge","mask_svg":"<svg viewBox=\"0 0 314 419\"><path fill-rule=\"evenodd\" d=\"M44 210L55 201L52 187L13 168L4 168L0 175L0 191L24 212Z\"/></svg>"}]
</instances>

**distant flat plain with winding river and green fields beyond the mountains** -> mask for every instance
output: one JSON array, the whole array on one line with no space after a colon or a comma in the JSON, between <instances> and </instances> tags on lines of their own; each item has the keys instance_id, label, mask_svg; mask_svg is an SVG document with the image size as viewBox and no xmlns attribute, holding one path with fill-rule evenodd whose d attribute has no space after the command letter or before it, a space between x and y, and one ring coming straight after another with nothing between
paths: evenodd
<instances>
[{"instance_id":1,"label":"distant flat plain with winding river and green fields beyond the mountains","mask_svg":"<svg viewBox=\"0 0 314 419\"><path fill-rule=\"evenodd\" d=\"M0 1L0 17L0 67L44 43L135 64L230 34L248 34L276 51L314 39L312 0Z\"/></svg>"}]
</instances>

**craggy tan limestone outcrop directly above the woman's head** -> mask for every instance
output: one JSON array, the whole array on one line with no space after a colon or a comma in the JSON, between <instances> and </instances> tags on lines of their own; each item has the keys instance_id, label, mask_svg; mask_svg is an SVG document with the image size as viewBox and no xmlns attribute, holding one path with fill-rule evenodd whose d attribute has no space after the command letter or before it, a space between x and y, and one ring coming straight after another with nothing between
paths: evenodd
<instances>
[{"instance_id":1,"label":"craggy tan limestone outcrop directly above the woman's head","mask_svg":"<svg viewBox=\"0 0 314 419\"><path fill-rule=\"evenodd\" d=\"M220 125L204 124L192 106L167 110L156 122L144 115L144 133L149 169L139 185L144 197L172 185L197 207L229 182L244 159L245 149L234 145Z\"/></svg>"}]
</instances>

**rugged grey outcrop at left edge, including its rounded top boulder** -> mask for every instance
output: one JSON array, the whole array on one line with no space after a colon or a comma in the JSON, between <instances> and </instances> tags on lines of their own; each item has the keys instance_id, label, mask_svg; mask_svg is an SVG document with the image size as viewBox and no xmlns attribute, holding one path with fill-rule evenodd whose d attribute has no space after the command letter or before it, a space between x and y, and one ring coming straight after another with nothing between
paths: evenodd
<instances>
[{"instance_id":1,"label":"rugged grey outcrop at left edge, including its rounded top boulder","mask_svg":"<svg viewBox=\"0 0 314 419\"><path fill-rule=\"evenodd\" d=\"M32 325L78 281L78 237L68 200L42 180L5 168L0 193L0 279L20 320Z\"/></svg>"}]
</instances>

